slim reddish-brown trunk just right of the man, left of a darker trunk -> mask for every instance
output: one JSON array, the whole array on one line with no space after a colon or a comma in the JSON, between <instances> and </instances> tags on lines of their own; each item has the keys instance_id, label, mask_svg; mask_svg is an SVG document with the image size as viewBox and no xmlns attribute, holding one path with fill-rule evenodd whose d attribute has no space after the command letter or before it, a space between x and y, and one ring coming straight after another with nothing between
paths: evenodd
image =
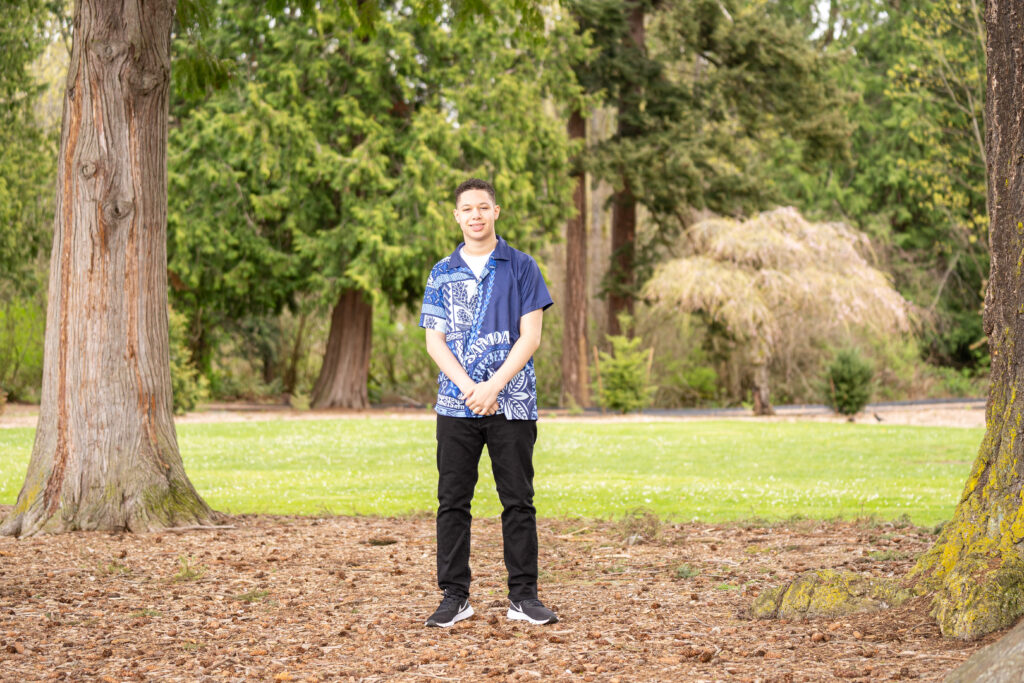
<instances>
[{"instance_id":1,"label":"slim reddish-brown trunk just right of the man, left of a darker trunk","mask_svg":"<svg viewBox=\"0 0 1024 683\"><path fill-rule=\"evenodd\" d=\"M587 121L573 111L569 139L586 140ZM578 169L572 190L575 215L565 224L565 302L562 315L562 392L580 408L590 405L587 379L587 174Z\"/></svg>"}]
</instances>

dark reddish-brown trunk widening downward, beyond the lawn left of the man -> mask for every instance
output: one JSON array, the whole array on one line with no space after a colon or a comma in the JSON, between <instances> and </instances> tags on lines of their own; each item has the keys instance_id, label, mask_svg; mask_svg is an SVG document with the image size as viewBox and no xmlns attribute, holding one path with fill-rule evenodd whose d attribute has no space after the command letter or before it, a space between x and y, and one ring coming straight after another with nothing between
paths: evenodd
<instances>
[{"instance_id":1,"label":"dark reddish-brown trunk widening downward, beyond the lawn left of the man","mask_svg":"<svg viewBox=\"0 0 1024 683\"><path fill-rule=\"evenodd\" d=\"M346 290L341 293L331 313L327 352L313 386L313 408L370 408L367 378L373 323L373 306L367 303L361 292Z\"/></svg>"}]
</instances>

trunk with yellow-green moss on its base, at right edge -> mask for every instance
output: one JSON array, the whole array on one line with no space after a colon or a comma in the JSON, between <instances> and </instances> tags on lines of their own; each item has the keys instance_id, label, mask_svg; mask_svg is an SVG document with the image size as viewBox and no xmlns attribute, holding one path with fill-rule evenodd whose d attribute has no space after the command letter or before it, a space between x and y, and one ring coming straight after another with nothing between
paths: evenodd
<instances>
[{"instance_id":1,"label":"trunk with yellow-green moss on its base, at right edge","mask_svg":"<svg viewBox=\"0 0 1024 683\"><path fill-rule=\"evenodd\" d=\"M977 638L1024 613L1024 5L988 0L985 102L991 273L985 334L991 350L986 431L952 519L914 575L935 591L942 633Z\"/></svg>"}]
</instances>

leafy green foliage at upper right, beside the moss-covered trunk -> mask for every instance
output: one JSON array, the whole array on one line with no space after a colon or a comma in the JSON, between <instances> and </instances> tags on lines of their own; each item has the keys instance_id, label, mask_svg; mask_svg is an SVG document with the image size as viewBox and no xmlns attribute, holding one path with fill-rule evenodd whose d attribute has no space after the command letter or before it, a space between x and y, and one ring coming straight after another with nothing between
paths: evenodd
<instances>
[{"instance_id":1,"label":"leafy green foliage at upper right, beside the moss-covered trunk","mask_svg":"<svg viewBox=\"0 0 1024 683\"><path fill-rule=\"evenodd\" d=\"M779 4L798 20L815 10ZM849 93L851 154L809 165L780 137L768 164L786 202L872 236L897 288L934 313L927 357L975 369L987 362L977 344L988 273L982 6L831 0L835 15L807 22L805 35Z\"/></svg>"}]
</instances>

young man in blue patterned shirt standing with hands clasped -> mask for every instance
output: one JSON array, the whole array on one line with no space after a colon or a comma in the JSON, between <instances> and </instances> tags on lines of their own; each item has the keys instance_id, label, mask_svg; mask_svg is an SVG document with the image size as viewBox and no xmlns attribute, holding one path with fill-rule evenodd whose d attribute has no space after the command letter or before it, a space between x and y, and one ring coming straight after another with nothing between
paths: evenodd
<instances>
[{"instance_id":1,"label":"young man in blue patterned shirt standing with hands clasped","mask_svg":"<svg viewBox=\"0 0 1024 683\"><path fill-rule=\"evenodd\" d=\"M552 304L532 258L495 232L501 208L488 182L455 193L463 244L430 271L420 327L437 378L437 585L444 597L427 626L473 615L469 605L470 503L487 446L502 502L508 618L554 624L537 598L534 442L544 309Z\"/></svg>"}]
</instances>

